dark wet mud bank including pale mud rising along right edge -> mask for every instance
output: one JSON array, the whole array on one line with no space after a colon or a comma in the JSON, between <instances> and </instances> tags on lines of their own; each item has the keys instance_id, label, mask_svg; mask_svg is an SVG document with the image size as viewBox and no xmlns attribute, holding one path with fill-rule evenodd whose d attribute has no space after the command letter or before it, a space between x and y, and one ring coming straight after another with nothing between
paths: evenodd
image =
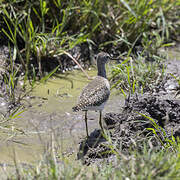
<instances>
[{"instance_id":1,"label":"dark wet mud bank including pale mud rising along right edge","mask_svg":"<svg viewBox=\"0 0 180 180\"><path fill-rule=\"evenodd\" d=\"M172 74L180 77L180 58L168 60L166 66L161 86L153 92L129 94L122 111L105 114L105 134L96 129L82 140L78 159L86 165L112 163L119 152L126 155L132 149L141 152L144 144L158 151L170 146L169 141L176 142L180 137L180 89Z\"/></svg>"}]
</instances>

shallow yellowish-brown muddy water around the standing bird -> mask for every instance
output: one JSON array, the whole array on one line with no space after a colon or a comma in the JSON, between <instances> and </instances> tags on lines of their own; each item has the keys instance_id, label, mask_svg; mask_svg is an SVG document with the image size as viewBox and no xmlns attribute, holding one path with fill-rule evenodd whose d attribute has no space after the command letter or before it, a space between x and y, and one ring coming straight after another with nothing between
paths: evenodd
<instances>
[{"instance_id":1,"label":"shallow yellowish-brown muddy water around the standing bird","mask_svg":"<svg viewBox=\"0 0 180 180\"><path fill-rule=\"evenodd\" d=\"M87 71L93 77L96 70ZM76 158L79 142L86 137L84 113L72 112L72 106L82 88L89 82L81 71L55 75L46 83L37 84L24 100L26 107L14 121L14 133L1 134L0 163L13 163L14 152L18 162L32 163L41 159L47 150L52 134L59 143L62 154ZM124 98L112 90L105 106L106 112L119 112ZM88 113L89 132L99 129L99 113Z\"/></svg>"}]
</instances>

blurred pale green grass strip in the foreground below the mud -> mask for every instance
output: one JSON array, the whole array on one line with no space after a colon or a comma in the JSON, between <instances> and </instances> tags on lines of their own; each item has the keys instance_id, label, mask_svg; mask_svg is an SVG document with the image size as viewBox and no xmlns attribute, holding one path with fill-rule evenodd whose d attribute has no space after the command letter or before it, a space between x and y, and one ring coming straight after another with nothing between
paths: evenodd
<instances>
[{"instance_id":1,"label":"blurred pale green grass strip in the foreground below the mud","mask_svg":"<svg viewBox=\"0 0 180 180\"><path fill-rule=\"evenodd\" d=\"M31 167L16 165L16 175L9 179L177 179L180 177L180 156L177 153L147 148L141 152L130 151L129 155L119 153L114 163L101 166L84 166L79 161L71 161L61 156L43 156L38 164Z\"/></svg>"}]
</instances>

